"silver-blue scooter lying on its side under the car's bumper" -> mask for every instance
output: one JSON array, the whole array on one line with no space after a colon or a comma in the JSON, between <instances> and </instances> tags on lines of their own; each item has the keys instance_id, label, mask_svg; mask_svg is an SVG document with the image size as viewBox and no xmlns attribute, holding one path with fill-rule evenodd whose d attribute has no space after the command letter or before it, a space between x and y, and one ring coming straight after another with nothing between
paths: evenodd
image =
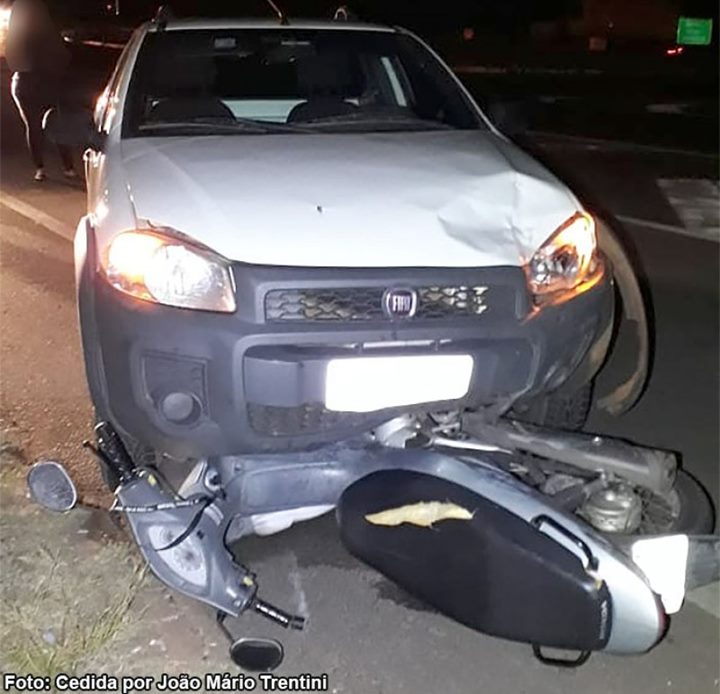
<instances>
[{"instance_id":1,"label":"silver-blue scooter lying on its side under the car's bumper","mask_svg":"<svg viewBox=\"0 0 720 694\"><path fill-rule=\"evenodd\" d=\"M651 649L685 592L720 574L699 485L671 454L614 439L408 415L314 451L202 460L174 490L109 424L96 435L88 447L118 480L112 510L160 580L217 611L247 669L277 666L282 646L235 641L229 617L253 610L293 629L304 620L260 599L229 546L333 508L355 556L448 616L531 644L548 664ZM49 508L75 503L56 463L35 466L29 484Z\"/></svg>"}]
</instances>

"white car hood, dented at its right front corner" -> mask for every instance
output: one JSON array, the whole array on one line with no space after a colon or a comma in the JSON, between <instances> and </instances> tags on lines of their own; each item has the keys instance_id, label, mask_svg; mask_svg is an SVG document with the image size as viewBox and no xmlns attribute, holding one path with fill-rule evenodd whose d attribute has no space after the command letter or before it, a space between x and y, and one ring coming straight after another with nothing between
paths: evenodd
<instances>
[{"instance_id":1,"label":"white car hood, dented at its right front corner","mask_svg":"<svg viewBox=\"0 0 720 694\"><path fill-rule=\"evenodd\" d=\"M489 131L143 138L123 161L138 223L256 264L521 265L579 209Z\"/></svg>"}]
</instances>

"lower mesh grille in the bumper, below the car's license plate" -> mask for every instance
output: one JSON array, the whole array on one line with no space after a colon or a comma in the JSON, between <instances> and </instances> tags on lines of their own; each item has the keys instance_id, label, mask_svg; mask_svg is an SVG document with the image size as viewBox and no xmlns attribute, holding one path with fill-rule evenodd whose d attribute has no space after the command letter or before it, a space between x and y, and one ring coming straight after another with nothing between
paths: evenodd
<instances>
[{"instance_id":1,"label":"lower mesh grille in the bumper, below the car's license plate","mask_svg":"<svg viewBox=\"0 0 720 694\"><path fill-rule=\"evenodd\" d=\"M263 436L299 436L350 428L367 421L368 416L355 412L333 412L322 405L273 407L248 405L250 426Z\"/></svg>"}]
</instances>

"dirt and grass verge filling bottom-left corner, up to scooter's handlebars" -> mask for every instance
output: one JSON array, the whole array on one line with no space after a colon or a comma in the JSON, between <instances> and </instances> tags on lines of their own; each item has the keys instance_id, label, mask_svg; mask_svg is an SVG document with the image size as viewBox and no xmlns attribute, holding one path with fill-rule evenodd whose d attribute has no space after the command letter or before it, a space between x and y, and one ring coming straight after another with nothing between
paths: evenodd
<instances>
[{"instance_id":1,"label":"dirt and grass verge filling bottom-left corner, up to scooter's handlebars","mask_svg":"<svg viewBox=\"0 0 720 694\"><path fill-rule=\"evenodd\" d=\"M25 491L24 453L0 455L0 672L115 677L223 672L209 610L171 593L104 511L47 512Z\"/></svg>"}]
</instances>

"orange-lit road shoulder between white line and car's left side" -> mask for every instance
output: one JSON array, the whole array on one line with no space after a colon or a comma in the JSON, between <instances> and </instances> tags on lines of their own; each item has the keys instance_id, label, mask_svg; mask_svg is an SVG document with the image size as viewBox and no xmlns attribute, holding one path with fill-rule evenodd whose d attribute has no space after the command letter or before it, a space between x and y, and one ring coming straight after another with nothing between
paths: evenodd
<instances>
[{"instance_id":1,"label":"orange-lit road shoulder between white line and car's left side","mask_svg":"<svg viewBox=\"0 0 720 694\"><path fill-rule=\"evenodd\" d=\"M75 308L72 244L2 208L0 431L27 461L60 460L84 503L107 508Z\"/></svg>"}]
</instances>

